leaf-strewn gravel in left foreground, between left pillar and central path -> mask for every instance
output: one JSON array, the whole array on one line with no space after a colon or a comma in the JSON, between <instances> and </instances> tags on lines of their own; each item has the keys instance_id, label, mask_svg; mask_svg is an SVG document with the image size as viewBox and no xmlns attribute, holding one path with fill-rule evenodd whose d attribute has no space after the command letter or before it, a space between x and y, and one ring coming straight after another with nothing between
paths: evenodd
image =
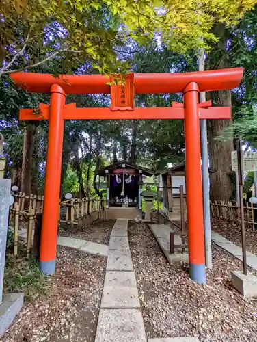
<instances>
[{"instance_id":1,"label":"leaf-strewn gravel in left foreground, between left pillar and central path","mask_svg":"<svg viewBox=\"0 0 257 342\"><path fill-rule=\"evenodd\" d=\"M26 303L0 342L94 342L106 261L58 247L51 293Z\"/></svg>"}]
</instances>

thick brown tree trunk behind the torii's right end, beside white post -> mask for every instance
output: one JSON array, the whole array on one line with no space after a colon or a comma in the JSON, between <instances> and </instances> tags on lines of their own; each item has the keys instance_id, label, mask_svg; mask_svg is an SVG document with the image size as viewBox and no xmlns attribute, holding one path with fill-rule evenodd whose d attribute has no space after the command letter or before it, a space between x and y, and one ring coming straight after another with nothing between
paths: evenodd
<instances>
[{"instance_id":1,"label":"thick brown tree trunk behind the torii's right end, beside white post","mask_svg":"<svg viewBox=\"0 0 257 342\"><path fill-rule=\"evenodd\" d=\"M217 46L209 53L206 60L206 70L228 68L226 59L226 44L228 32L223 23L214 27L214 33L220 38ZM217 51L219 55L217 55ZM211 92L207 94L212 99L213 106L231 106L231 92L229 90ZM215 170L211 174L211 200L230 200L234 193L232 181L231 152L234 150L232 138L222 141L219 136L224 133L225 127L232 124L231 120L208 120L208 147L210 166Z\"/></svg>"}]
</instances>

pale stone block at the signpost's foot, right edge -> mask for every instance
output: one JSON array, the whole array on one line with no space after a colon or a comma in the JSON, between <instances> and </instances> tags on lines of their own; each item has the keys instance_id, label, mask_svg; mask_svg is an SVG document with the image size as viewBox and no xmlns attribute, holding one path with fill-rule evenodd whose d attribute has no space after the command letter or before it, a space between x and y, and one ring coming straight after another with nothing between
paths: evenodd
<instances>
[{"instance_id":1,"label":"pale stone block at the signpost's foot, right edge","mask_svg":"<svg viewBox=\"0 0 257 342\"><path fill-rule=\"evenodd\" d=\"M257 278L252 273L247 272L247 275L242 271L232 271L232 284L234 288L243 295L244 298L257 297Z\"/></svg>"}]
</instances>

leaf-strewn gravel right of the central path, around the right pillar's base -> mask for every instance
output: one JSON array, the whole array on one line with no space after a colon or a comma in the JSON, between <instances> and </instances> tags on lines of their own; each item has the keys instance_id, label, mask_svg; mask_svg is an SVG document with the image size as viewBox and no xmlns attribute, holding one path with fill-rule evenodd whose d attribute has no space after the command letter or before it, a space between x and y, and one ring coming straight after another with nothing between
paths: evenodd
<instances>
[{"instance_id":1,"label":"leaf-strewn gravel right of the central path, around the right pillar's base","mask_svg":"<svg viewBox=\"0 0 257 342\"><path fill-rule=\"evenodd\" d=\"M145 224L129 225L129 242L147 337L197 335L200 341L257 341L257 302L243 300L230 271L241 262L213 244L207 284L188 276L187 265L170 265Z\"/></svg>"}]
</instances>

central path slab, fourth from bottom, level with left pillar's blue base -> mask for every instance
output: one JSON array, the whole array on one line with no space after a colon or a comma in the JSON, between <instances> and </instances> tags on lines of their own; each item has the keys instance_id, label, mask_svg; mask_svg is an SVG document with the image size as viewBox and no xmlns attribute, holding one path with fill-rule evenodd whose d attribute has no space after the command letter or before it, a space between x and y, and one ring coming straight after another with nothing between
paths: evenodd
<instances>
[{"instance_id":1,"label":"central path slab, fourth from bottom, level with left pillar's blue base","mask_svg":"<svg viewBox=\"0 0 257 342\"><path fill-rule=\"evenodd\" d=\"M133 271L131 252L129 250L109 250L107 271Z\"/></svg>"}]
</instances>

